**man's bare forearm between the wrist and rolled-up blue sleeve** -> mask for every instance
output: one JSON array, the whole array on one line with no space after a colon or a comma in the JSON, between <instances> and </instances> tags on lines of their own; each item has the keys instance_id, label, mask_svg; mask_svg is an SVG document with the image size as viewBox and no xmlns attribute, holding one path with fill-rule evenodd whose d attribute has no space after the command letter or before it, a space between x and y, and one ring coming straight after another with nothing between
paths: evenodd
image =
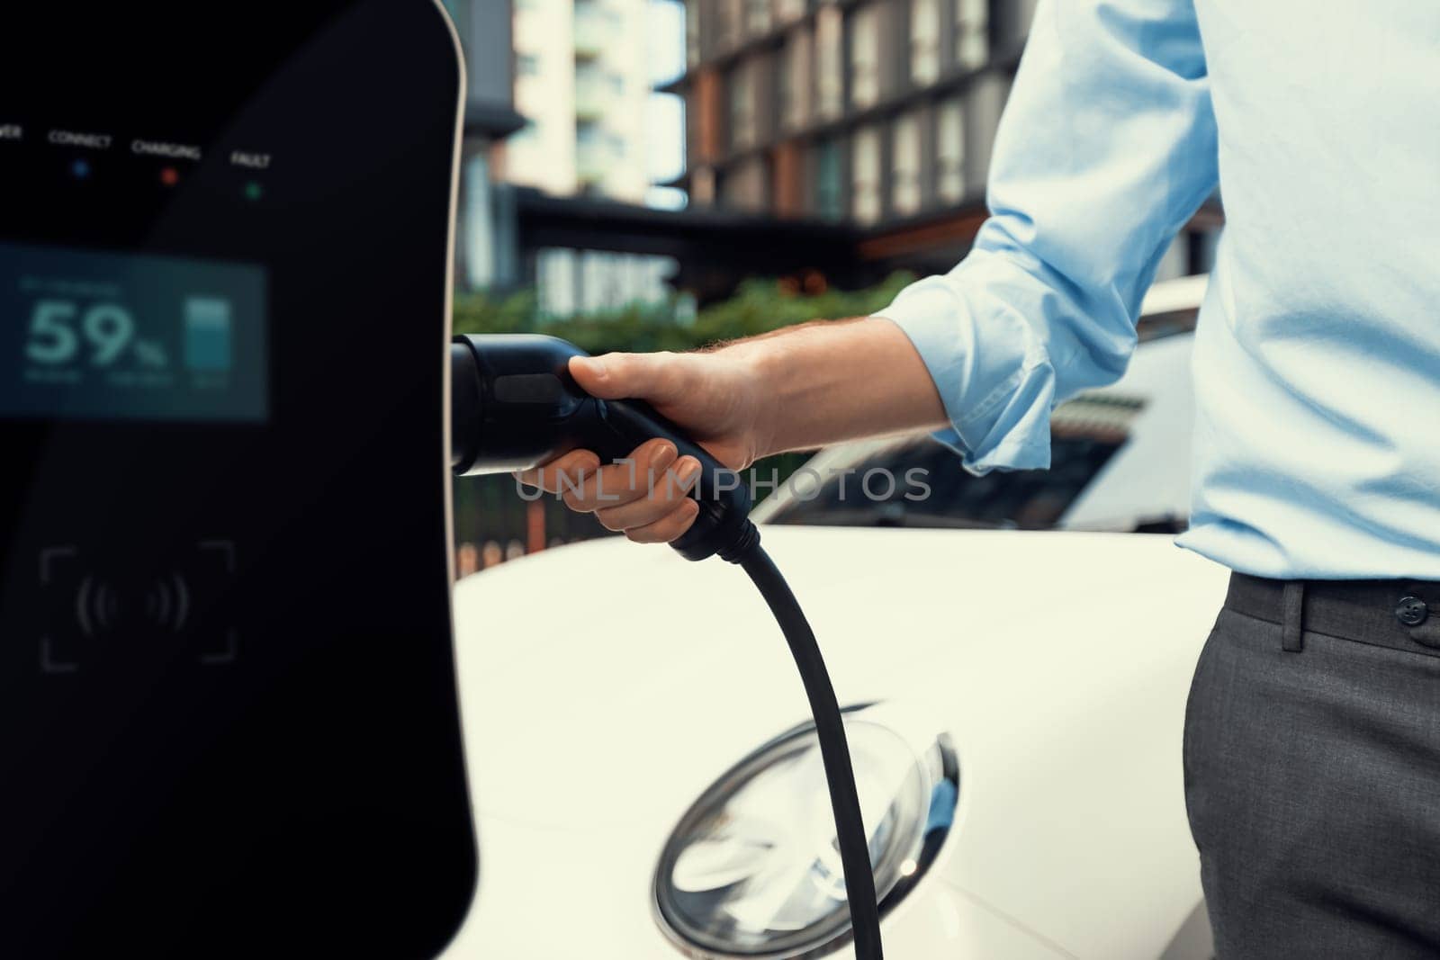
<instances>
[{"instance_id":1,"label":"man's bare forearm between the wrist and rolled-up blue sleeve","mask_svg":"<svg viewBox=\"0 0 1440 960\"><path fill-rule=\"evenodd\" d=\"M762 453L948 422L924 361L887 320L819 321L727 350L742 353L756 368Z\"/></svg>"}]
</instances>

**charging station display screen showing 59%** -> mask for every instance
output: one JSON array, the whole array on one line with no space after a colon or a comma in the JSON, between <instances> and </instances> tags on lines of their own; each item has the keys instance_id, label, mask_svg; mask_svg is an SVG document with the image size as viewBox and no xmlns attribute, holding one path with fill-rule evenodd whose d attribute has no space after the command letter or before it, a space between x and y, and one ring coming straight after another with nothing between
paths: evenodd
<instances>
[{"instance_id":1,"label":"charging station display screen showing 59%","mask_svg":"<svg viewBox=\"0 0 1440 960\"><path fill-rule=\"evenodd\" d=\"M251 263L0 243L0 417L268 416Z\"/></svg>"}]
</instances>

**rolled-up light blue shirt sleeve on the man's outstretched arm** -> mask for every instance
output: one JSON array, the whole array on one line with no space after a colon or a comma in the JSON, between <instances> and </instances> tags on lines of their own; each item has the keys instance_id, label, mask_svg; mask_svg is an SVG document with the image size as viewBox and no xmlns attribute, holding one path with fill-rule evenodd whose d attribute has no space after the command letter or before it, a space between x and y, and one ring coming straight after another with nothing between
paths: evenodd
<instances>
[{"instance_id":1,"label":"rolled-up light blue shirt sleeve on the man's outstretched arm","mask_svg":"<svg viewBox=\"0 0 1440 960\"><path fill-rule=\"evenodd\" d=\"M1054 404L1125 373L1215 151L1191 0L1041 0L972 252L877 314L924 360L968 469L1050 466Z\"/></svg>"}]
</instances>

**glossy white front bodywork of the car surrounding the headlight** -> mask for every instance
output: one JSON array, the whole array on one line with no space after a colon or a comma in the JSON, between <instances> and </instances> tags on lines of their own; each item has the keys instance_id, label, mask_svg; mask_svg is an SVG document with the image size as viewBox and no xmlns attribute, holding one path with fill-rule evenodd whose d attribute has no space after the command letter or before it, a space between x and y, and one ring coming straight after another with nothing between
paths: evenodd
<instances>
[{"instance_id":1,"label":"glossy white front bodywork of the car surrounding the headlight","mask_svg":"<svg viewBox=\"0 0 1440 960\"><path fill-rule=\"evenodd\" d=\"M1179 743L1225 571L1155 535L763 538L842 702L903 704L955 741L955 830L887 940L1161 956L1201 897ZM456 948L678 956L649 910L668 830L730 763L805 720L763 602L727 564L606 540L469 577L455 609L482 851ZM984 940L996 923L1025 947Z\"/></svg>"}]
</instances>

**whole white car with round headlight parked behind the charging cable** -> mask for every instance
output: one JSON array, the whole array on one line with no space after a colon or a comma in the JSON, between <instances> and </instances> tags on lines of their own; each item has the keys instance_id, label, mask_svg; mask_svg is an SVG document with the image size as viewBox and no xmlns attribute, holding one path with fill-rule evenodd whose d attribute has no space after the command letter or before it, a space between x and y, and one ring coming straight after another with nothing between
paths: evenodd
<instances>
[{"instance_id":1,"label":"whole white car with round headlight parked behind the charging cable","mask_svg":"<svg viewBox=\"0 0 1440 960\"><path fill-rule=\"evenodd\" d=\"M1202 284L1158 285L1146 325ZM886 440L809 466L939 456L933 502L756 511L851 707L893 960L1212 954L1181 728L1227 571L1113 533L1185 515L1189 341L1057 409L1079 446L1048 485ZM852 956L805 698L740 570L592 541L461 581L455 612L481 878L449 956Z\"/></svg>"}]
</instances>

